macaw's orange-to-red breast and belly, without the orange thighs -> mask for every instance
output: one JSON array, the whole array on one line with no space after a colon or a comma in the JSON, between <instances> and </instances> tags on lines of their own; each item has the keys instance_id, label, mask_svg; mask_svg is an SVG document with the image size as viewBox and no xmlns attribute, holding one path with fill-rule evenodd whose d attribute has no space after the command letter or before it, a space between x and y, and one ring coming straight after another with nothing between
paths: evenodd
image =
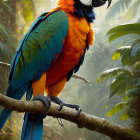
<instances>
[{"instance_id":1,"label":"macaw's orange-to-red breast and belly, without the orange thighs","mask_svg":"<svg viewBox=\"0 0 140 140\"><path fill-rule=\"evenodd\" d=\"M93 43L93 29L85 18L69 17L69 31L65 38L62 53L47 72L47 85L58 82L65 77L84 55L86 42Z\"/></svg>"}]
</instances>

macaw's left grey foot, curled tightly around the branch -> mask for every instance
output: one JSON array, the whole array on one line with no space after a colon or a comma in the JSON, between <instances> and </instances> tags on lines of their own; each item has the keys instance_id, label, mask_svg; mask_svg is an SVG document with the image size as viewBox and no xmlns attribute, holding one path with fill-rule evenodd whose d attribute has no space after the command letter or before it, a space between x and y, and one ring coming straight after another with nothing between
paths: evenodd
<instances>
[{"instance_id":1,"label":"macaw's left grey foot, curled tightly around the branch","mask_svg":"<svg viewBox=\"0 0 140 140\"><path fill-rule=\"evenodd\" d=\"M46 111L48 111L48 109L51 106L51 100L48 97L39 94L37 97L34 97L32 101L36 101L36 100L41 101L45 105Z\"/></svg>"}]
</instances>

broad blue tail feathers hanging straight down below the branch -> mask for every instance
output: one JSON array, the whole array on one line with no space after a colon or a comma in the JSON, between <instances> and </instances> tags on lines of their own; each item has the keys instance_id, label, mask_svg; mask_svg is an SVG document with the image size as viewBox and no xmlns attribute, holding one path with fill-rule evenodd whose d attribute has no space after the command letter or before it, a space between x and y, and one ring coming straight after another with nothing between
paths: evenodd
<instances>
[{"instance_id":1,"label":"broad blue tail feathers hanging straight down below the branch","mask_svg":"<svg viewBox=\"0 0 140 140\"><path fill-rule=\"evenodd\" d=\"M21 140L42 140L44 116L25 113Z\"/></svg>"}]
</instances>

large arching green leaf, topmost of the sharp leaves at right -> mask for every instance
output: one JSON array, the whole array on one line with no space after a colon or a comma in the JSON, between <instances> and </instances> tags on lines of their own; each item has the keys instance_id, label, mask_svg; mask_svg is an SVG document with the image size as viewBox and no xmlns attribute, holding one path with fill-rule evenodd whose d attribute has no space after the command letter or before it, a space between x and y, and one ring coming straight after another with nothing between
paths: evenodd
<instances>
[{"instance_id":1,"label":"large arching green leaf, topmost of the sharp leaves at right","mask_svg":"<svg viewBox=\"0 0 140 140\"><path fill-rule=\"evenodd\" d=\"M113 40L128 34L140 35L139 29L140 29L140 23L126 24L126 25L120 25L114 27L111 30L109 30L107 33L107 35L109 35L109 42L112 42Z\"/></svg>"}]
</instances>

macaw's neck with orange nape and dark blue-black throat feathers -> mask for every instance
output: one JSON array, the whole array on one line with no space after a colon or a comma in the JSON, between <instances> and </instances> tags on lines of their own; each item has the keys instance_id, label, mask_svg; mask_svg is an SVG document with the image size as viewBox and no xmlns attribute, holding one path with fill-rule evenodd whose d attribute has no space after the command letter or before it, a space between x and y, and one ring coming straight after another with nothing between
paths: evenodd
<instances>
[{"instance_id":1,"label":"macaw's neck with orange nape and dark blue-black throat feathers","mask_svg":"<svg viewBox=\"0 0 140 140\"><path fill-rule=\"evenodd\" d=\"M66 13L74 14L77 17L85 17L88 22L93 22L95 19L93 8L83 5L79 0L59 0L58 6Z\"/></svg>"}]
</instances>

